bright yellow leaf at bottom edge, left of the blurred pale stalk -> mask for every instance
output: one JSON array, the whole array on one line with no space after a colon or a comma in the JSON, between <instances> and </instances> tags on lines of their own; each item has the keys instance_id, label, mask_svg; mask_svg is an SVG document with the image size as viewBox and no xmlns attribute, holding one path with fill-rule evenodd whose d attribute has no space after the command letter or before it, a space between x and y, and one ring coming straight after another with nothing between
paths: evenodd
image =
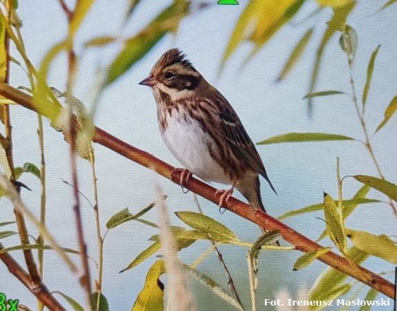
<instances>
[{"instance_id":1,"label":"bright yellow leaf at bottom edge, left of the blurred pale stalk","mask_svg":"<svg viewBox=\"0 0 397 311\"><path fill-rule=\"evenodd\" d=\"M164 261L156 261L147 272L145 285L136 297L131 311L163 311L164 285L160 276L165 273Z\"/></svg>"}]
</instances>

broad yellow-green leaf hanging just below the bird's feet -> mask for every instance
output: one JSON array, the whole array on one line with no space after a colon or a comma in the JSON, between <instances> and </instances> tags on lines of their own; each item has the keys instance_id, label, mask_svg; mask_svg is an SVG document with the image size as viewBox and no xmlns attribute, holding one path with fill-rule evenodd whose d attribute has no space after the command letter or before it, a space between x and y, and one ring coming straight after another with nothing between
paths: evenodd
<instances>
[{"instance_id":1,"label":"broad yellow-green leaf hanging just below the bird's feet","mask_svg":"<svg viewBox=\"0 0 397 311\"><path fill-rule=\"evenodd\" d=\"M213 241L228 243L238 240L237 236L228 227L216 220L193 211L177 211L176 216L190 227L208 234Z\"/></svg>"}]
</instances>

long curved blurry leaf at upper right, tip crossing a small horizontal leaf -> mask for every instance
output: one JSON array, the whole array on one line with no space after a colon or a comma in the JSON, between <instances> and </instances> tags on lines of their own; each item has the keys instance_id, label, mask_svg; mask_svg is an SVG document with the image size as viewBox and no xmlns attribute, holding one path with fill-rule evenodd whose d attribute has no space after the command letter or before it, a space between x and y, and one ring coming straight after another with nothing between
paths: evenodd
<instances>
[{"instance_id":1,"label":"long curved blurry leaf at upper right, tip crossing a small horizontal leaf","mask_svg":"<svg viewBox=\"0 0 397 311\"><path fill-rule=\"evenodd\" d=\"M324 35L321 39L320 45L317 48L317 52L315 53L315 62L313 66L313 72L311 75L311 84L308 90L308 93L313 93L317 88L318 75L320 73L320 66L322 63L322 57L324 55L324 51L326 50L326 46L329 44L329 41L337 31L342 31L344 25L346 24L347 17L350 15L353 8L356 6L356 1L352 0L347 2L344 6L333 8L333 17L326 24L328 28L326 28ZM308 98L308 113L311 115L313 111L313 98Z\"/></svg>"}]
</instances>

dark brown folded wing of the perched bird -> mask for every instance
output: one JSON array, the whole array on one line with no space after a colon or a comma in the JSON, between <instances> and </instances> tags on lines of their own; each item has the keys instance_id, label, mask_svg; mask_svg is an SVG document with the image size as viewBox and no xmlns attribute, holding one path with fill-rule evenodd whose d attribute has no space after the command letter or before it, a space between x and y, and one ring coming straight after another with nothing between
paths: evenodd
<instances>
[{"instance_id":1,"label":"dark brown folded wing of the perched bird","mask_svg":"<svg viewBox=\"0 0 397 311\"><path fill-rule=\"evenodd\" d=\"M243 124L237 113L232 109L232 106L230 106L230 104L228 104L228 106L223 106L223 109L221 109L218 114L221 129L234 152L238 156L243 157L252 169L260 173L261 176L267 180L273 191L275 191L266 173L264 163L257 149L255 149L254 143L250 139L250 136L248 136L246 129L244 129Z\"/></svg>"}]
</instances>

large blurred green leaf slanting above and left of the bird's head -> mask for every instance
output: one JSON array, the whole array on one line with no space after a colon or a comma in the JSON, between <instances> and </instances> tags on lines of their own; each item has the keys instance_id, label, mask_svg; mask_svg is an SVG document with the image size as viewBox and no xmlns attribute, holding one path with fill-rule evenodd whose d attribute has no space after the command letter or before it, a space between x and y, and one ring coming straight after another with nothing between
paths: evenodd
<instances>
[{"instance_id":1,"label":"large blurred green leaf slanting above and left of the bird's head","mask_svg":"<svg viewBox=\"0 0 397 311\"><path fill-rule=\"evenodd\" d=\"M109 67L106 84L109 85L115 82L133 64L144 57L167 32L176 30L181 19L188 14L189 7L189 1L174 1L149 25L140 30L138 35L128 39L124 48L122 48Z\"/></svg>"}]
</instances>

